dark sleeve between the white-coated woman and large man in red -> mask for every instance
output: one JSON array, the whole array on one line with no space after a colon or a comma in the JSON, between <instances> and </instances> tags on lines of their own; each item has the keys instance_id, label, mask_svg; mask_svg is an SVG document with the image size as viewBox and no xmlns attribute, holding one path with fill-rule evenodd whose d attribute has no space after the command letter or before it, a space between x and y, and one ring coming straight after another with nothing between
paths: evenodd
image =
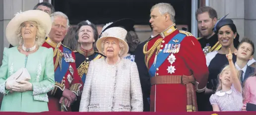
<instances>
[{"instance_id":1,"label":"dark sleeve between the white-coated woman and large man in red","mask_svg":"<svg viewBox=\"0 0 256 115\"><path fill-rule=\"evenodd\" d=\"M149 96L150 96L150 76L145 64L145 55L143 54L143 46L146 42L139 44L134 52L135 63L137 64L139 79L143 94L143 112L149 112Z\"/></svg>"}]
</instances>

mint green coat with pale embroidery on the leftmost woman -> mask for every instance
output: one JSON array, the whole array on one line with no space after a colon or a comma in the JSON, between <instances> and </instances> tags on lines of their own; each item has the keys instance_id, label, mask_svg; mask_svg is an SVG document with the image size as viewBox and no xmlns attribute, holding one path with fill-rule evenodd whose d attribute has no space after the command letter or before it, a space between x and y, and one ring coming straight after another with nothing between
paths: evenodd
<instances>
[{"instance_id":1,"label":"mint green coat with pale embroidery on the leftmost woman","mask_svg":"<svg viewBox=\"0 0 256 115\"><path fill-rule=\"evenodd\" d=\"M26 56L17 47L4 48L0 67L0 93L4 94L1 110L9 112L44 112L48 111L47 92L53 89L54 65L53 49L39 47L38 51L27 57L26 68L31 76L33 91L12 92L5 90L6 79L25 67Z\"/></svg>"}]
</instances>

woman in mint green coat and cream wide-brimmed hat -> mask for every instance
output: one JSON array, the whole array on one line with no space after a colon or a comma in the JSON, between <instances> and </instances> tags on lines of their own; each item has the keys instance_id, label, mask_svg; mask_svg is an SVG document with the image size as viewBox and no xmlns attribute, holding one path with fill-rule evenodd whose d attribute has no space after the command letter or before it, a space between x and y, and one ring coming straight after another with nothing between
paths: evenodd
<instances>
[{"instance_id":1,"label":"woman in mint green coat and cream wide-brimmed hat","mask_svg":"<svg viewBox=\"0 0 256 115\"><path fill-rule=\"evenodd\" d=\"M49 14L41 10L19 12L8 23L6 38L14 47L3 51L0 111L48 111L47 92L55 83L53 49L41 45L51 27Z\"/></svg>"}]
</instances>

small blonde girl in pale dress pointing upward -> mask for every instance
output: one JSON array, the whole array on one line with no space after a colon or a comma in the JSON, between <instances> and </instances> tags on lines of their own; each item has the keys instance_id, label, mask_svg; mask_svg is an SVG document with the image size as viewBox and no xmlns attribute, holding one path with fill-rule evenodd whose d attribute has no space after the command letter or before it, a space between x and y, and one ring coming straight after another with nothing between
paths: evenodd
<instances>
[{"instance_id":1,"label":"small blonde girl in pale dress pointing upward","mask_svg":"<svg viewBox=\"0 0 256 115\"><path fill-rule=\"evenodd\" d=\"M226 55L229 65L225 66L219 74L217 92L210 97L213 111L241 111L243 107L242 86L240 73L232 61L232 53Z\"/></svg>"}]
</instances>

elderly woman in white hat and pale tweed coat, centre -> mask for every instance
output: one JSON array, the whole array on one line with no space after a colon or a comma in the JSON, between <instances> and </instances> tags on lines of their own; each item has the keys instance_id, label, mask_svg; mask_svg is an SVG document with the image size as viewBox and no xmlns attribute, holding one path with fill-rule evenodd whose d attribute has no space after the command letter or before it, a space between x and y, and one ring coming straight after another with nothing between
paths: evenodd
<instances>
[{"instance_id":1,"label":"elderly woman in white hat and pale tweed coat, centre","mask_svg":"<svg viewBox=\"0 0 256 115\"><path fill-rule=\"evenodd\" d=\"M127 31L112 27L102 33L97 49L107 58L90 61L79 112L142 112L142 92L135 62L128 53Z\"/></svg>"}]
</instances>

